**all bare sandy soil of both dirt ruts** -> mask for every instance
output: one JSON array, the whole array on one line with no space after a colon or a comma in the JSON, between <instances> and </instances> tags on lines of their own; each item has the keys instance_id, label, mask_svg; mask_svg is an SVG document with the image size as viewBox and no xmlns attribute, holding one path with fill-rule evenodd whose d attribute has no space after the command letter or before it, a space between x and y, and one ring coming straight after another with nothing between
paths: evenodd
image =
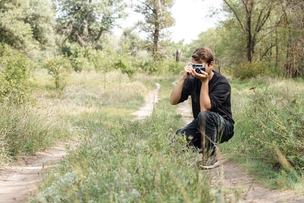
<instances>
[{"instance_id":1,"label":"all bare sandy soil of both dirt ruts","mask_svg":"<svg viewBox=\"0 0 304 203\"><path fill-rule=\"evenodd\" d=\"M150 115L158 100L160 85L146 96L145 105L134 114L136 119ZM192 120L190 101L179 104L178 113L183 115L185 124ZM0 169L0 203L24 203L42 180L49 167L55 166L68 152L66 146L56 146L35 156L23 157L14 166ZM214 188L224 190L219 202L230 203L304 203L304 196L292 191L270 190L253 183L253 176L236 164L219 157L220 166L211 170L202 170L208 174ZM238 198L236 198L238 196Z\"/></svg>"}]
</instances>

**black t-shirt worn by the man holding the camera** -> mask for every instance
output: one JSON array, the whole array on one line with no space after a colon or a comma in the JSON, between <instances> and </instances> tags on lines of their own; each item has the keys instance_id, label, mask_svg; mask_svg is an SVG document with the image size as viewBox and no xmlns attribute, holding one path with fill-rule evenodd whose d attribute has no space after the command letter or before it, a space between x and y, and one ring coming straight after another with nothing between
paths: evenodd
<instances>
[{"instance_id":1,"label":"black t-shirt worn by the man holding the camera","mask_svg":"<svg viewBox=\"0 0 304 203\"><path fill-rule=\"evenodd\" d=\"M209 81L209 97L211 100L211 110L219 113L221 116L229 118L230 122L235 123L231 112L231 86L223 75L213 71L214 75ZM178 103L181 103L191 96L193 117L197 118L200 107L200 92L202 82L198 78L190 75L187 77L183 87L182 96Z\"/></svg>"}]
</instances>

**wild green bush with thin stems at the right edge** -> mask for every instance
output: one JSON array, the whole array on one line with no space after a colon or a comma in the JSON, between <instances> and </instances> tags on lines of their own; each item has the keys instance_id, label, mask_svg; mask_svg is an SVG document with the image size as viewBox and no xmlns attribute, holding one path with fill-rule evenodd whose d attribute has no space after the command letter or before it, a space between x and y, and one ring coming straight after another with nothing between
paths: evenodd
<instances>
[{"instance_id":1,"label":"wild green bush with thin stems at the right edge","mask_svg":"<svg viewBox=\"0 0 304 203\"><path fill-rule=\"evenodd\" d=\"M292 97L275 96L272 90L254 90L247 115L255 126L251 142L264 162L283 165L276 149L298 171L304 170L304 106L303 93Z\"/></svg>"}]
</instances>

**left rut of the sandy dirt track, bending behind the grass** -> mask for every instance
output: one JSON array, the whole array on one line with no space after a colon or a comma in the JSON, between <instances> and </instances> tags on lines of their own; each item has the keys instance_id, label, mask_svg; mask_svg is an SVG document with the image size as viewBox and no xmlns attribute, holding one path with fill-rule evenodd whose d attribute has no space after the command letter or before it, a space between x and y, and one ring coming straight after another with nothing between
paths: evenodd
<instances>
[{"instance_id":1,"label":"left rut of the sandy dirt track, bending behind the grass","mask_svg":"<svg viewBox=\"0 0 304 203\"><path fill-rule=\"evenodd\" d=\"M150 91L145 98L143 107L136 111L135 119L149 116L158 100L158 90ZM0 169L0 203L25 203L31 192L36 189L36 184L42 180L41 174L50 166L55 166L68 148L56 146L44 152L38 152L35 156L23 157L15 166L6 166Z\"/></svg>"}]
</instances>

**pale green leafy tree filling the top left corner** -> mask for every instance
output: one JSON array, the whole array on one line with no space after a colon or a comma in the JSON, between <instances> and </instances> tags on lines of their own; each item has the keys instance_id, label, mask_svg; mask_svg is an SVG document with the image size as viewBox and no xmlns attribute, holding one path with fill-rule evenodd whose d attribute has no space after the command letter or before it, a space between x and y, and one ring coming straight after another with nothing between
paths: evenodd
<instances>
[{"instance_id":1,"label":"pale green leafy tree filling the top left corner","mask_svg":"<svg viewBox=\"0 0 304 203\"><path fill-rule=\"evenodd\" d=\"M1 0L0 43L25 52L45 49L53 42L51 8L47 0Z\"/></svg>"}]
</instances>

